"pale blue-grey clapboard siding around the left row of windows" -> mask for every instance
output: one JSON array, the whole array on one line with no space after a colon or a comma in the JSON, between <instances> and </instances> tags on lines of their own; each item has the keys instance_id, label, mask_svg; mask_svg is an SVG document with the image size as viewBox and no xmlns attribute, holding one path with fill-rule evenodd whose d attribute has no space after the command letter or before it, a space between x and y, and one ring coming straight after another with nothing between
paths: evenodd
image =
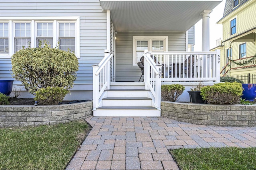
<instances>
[{"instance_id":1,"label":"pale blue-grey clapboard siding around the left row of windows","mask_svg":"<svg viewBox=\"0 0 256 170\"><path fill-rule=\"evenodd\" d=\"M92 65L100 63L106 49L106 12L99 0L0 0L0 17L80 17L80 58L75 84L92 84ZM0 79L11 79L11 61L0 59ZM90 87L90 89L88 89ZM79 87L80 90L82 90ZM84 90L92 90L86 86Z\"/></svg>"}]
</instances>

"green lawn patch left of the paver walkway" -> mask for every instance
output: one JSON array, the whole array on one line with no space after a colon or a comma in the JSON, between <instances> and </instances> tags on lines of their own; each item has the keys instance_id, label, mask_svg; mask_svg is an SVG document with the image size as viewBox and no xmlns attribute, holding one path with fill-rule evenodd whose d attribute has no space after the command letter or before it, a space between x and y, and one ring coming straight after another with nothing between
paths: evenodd
<instances>
[{"instance_id":1,"label":"green lawn patch left of the paver walkway","mask_svg":"<svg viewBox=\"0 0 256 170\"><path fill-rule=\"evenodd\" d=\"M0 170L63 170L87 131L85 121L0 128Z\"/></svg>"}]
</instances>

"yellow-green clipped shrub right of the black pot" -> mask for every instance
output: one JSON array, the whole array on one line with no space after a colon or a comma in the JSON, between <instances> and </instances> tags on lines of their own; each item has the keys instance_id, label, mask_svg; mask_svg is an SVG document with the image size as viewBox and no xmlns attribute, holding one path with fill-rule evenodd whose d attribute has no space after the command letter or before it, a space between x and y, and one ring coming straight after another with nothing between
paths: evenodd
<instances>
[{"instance_id":1,"label":"yellow-green clipped shrub right of the black pot","mask_svg":"<svg viewBox=\"0 0 256 170\"><path fill-rule=\"evenodd\" d=\"M235 104L240 103L242 96L241 83L218 83L213 86L201 88L201 95L204 100L211 104Z\"/></svg>"}]
</instances>

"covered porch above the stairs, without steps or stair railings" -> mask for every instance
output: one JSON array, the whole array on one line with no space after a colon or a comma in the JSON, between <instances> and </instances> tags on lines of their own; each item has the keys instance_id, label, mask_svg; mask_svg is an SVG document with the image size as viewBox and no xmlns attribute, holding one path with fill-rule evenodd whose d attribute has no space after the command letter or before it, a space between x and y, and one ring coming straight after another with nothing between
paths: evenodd
<instances>
[{"instance_id":1,"label":"covered porch above the stairs, without steps or stair railings","mask_svg":"<svg viewBox=\"0 0 256 170\"><path fill-rule=\"evenodd\" d=\"M202 52L188 53L187 30L203 18L202 51L209 51L209 14L221 1L100 0L107 12L112 81L138 82L142 73L137 63L144 50L154 53L157 64L164 65L162 81L218 81L212 77L216 58ZM190 55L195 55L194 61L187 65Z\"/></svg>"}]
</instances>

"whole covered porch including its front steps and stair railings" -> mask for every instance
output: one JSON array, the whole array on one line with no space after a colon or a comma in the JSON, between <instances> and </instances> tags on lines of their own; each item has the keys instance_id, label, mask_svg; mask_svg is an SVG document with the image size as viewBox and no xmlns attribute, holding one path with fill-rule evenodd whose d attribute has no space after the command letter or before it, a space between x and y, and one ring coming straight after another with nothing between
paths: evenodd
<instances>
[{"instance_id":1,"label":"whole covered porch including its front steps and stair railings","mask_svg":"<svg viewBox=\"0 0 256 170\"><path fill-rule=\"evenodd\" d=\"M93 65L94 116L160 116L162 83L219 82L220 51L209 52L209 14L220 2L100 0L107 49ZM187 31L200 19L203 52L188 51ZM135 83L141 75L143 83Z\"/></svg>"}]
</instances>

